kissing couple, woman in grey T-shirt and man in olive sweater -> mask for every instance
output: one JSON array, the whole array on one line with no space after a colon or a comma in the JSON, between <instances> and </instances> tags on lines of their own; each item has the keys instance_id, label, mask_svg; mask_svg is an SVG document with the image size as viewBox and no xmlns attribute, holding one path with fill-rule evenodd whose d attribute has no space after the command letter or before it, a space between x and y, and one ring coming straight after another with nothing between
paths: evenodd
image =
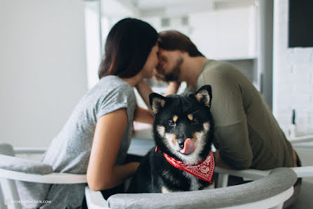
<instances>
[{"instance_id":1,"label":"kissing couple, woman in grey T-shirt and man in olive sweater","mask_svg":"<svg viewBox=\"0 0 313 209\"><path fill-rule=\"evenodd\" d=\"M158 34L142 20L120 20L107 36L98 75L99 82L76 105L42 160L55 172L86 174L92 190L119 186L137 170L140 163L126 163L133 121L152 124L154 115L137 106L133 87L148 104L152 91L145 79L153 75L168 83L166 94L177 93L184 81L185 91L211 85L215 165L296 166L296 153L253 84L229 63L206 58L185 34ZM84 200L84 184L20 184L23 199L52 201L33 208L81 208Z\"/></svg>"}]
</instances>

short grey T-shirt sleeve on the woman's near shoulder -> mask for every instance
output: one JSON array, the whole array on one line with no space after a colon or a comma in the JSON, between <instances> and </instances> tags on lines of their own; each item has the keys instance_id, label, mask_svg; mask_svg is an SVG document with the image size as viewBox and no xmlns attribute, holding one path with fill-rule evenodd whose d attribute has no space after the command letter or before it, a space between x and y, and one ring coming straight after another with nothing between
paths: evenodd
<instances>
[{"instance_id":1,"label":"short grey T-shirt sleeve on the woman's near shoulder","mask_svg":"<svg viewBox=\"0 0 313 209\"><path fill-rule=\"evenodd\" d=\"M135 110L134 99L133 89L124 86L113 88L105 96L102 96L102 100L98 106L97 120L102 115L112 113L121 108L126 108L128 121L133 120L133 112Z\"/></svg>"}]
</instances>

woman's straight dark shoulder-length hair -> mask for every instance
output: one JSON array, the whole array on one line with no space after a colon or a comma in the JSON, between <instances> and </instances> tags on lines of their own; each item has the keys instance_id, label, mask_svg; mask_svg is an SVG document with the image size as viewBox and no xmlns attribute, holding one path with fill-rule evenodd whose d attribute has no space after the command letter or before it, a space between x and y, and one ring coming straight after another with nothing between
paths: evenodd
<instances>
[{"instance_id":1,"label":"woman's straight dark shoulder-length hair","mask_svg":"<svg viewBox=\"0 0 313 209\"><path fill-rule=\"evenodd\" d=\"M106 75L133 77L142 70L158 34L148 23L126 18L116 23L105 42L105 54L99 68L99 78Z\"/></svg>"}]
</instances>

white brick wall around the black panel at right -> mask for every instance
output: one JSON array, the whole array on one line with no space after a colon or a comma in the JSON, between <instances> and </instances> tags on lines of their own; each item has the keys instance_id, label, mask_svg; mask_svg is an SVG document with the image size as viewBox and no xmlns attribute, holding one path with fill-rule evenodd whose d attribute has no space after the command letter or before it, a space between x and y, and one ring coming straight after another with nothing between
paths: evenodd
<instances>
[{"instance_id":1,"label":"white brick wall around the black panel at right","mask_svg":"<svg viewBox=\"0 0 313 209\"><path fill-rule=\"evenodd\" d=\"M313 47L288 48L288 0L274 1L273 112L281 127L295 108L299 134L313 134Z\"/></svg>"}]
</instances>

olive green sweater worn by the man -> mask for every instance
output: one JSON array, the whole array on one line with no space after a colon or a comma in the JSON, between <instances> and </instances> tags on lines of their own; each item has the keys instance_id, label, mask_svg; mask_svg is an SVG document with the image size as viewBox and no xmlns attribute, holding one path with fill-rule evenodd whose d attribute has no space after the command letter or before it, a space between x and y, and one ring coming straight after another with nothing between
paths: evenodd
<instances>
[{"instance_id":1,"label":"olive green sweater worn by the man","mask_svg":"<svg viewBox=\"0 0 313 209\"><path fill-rule=\"evenodd\" d=\"M267 103L233 65L210 60L196 89L212 87L214 145L227 165L260 170L293 167L292 147Z\"/></svg>"}]
</instances>

